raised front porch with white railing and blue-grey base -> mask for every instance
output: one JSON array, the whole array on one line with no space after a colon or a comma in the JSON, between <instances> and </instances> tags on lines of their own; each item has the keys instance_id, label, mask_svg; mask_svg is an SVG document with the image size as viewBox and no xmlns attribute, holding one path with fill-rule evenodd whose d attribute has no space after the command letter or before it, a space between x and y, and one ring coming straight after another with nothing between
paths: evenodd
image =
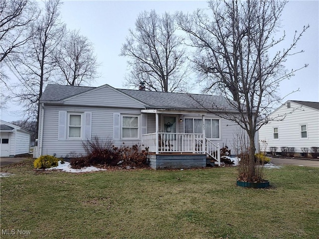
<instances>
[{"instance_id":1,"label":"raised front porch with white railing and blue-grey base","mask_svg":"<svg viewBox=\"0 0 319 239\"><path fill-rule=\"evenodd\" d=\"M205 167L206 160L220 166L219 144L202 133L148 133L142 135L142 143L149 147L148 160L154 169Z\"/></svg>"}]
</instances>

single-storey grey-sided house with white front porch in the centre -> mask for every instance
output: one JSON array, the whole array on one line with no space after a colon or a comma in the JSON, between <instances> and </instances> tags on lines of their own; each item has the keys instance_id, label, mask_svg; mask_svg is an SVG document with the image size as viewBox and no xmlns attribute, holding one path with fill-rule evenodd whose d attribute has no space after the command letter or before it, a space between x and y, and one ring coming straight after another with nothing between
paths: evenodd
<instances>
[{"instance_id":1,"label":"single-storey grey-sided house with white front porch in the centre","mask_svg":"<svg viewBox=\"0 0 319 239\"><path fill-rule=\"evenodd\" d=\"M35 157L85 154L82 141L98 136L149 147L153 168L204 167L206 155L220 164L219 148L233 150L239 130L213 114L213 105L236 114L221 96L49 84L39 102Z\"/></svg>"}]
</instances>

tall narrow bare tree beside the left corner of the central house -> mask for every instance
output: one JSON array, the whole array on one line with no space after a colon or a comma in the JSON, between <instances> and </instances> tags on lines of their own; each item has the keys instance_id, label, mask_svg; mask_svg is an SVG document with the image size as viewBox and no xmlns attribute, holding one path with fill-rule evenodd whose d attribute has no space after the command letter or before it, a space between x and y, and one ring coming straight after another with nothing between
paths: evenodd
<instances>
[{"instance_id":1,"label":"tall narrow bare tree beside the left corner of the central house","mask_svg":"<svg viewBox=\"0 0 319 239\"><path fill-rule=\"evenodd\" d=\"M15 69L20 83L12 98L23 106L26 119L39 119L39 99L48 82L54 80L55 64L52 52L62 39L65 25L60 20L59 0L44 2L44 11L30 27L31 39L24 45L23 54L18 54ZM38 131L38 130L36 130Z\"/></svg>"}]
</instances>

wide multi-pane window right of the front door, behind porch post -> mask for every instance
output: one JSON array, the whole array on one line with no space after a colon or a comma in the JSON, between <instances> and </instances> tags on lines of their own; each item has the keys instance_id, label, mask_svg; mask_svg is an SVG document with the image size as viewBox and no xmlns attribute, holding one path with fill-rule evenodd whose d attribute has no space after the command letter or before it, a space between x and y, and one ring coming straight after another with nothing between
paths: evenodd
<instances>
[{"instance_id":1,"label":"wide multi-pane window right of the front door, behind porch post","mask_svg":"<svg viewBox=\"0 0 319 239\"><path fill-rule=\"evenodd\" d=\"M185 133L202 133L202 119L185 119ZM205 119L205 137L219 138L219 119Z\"/></svg>"}]
</instances>

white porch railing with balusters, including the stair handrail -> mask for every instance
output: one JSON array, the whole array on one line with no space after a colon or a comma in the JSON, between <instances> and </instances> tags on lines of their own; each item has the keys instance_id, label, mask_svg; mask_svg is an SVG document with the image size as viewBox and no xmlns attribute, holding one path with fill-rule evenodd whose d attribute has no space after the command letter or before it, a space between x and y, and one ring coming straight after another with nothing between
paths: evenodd
<instances>
[{"instance_id":1,"label":"white porch railing with balusters, including the stair handrail","mask_svg":"<svg viewBox=\"0 0 319 239\"><path fill-rule=\"evenodd\" d=\"M142 135L142 143L149 147L149 152L155 153L206 153L220 166L219 144L204 138L201 133L148 133Z\"/></svg>"}]
</instances>

